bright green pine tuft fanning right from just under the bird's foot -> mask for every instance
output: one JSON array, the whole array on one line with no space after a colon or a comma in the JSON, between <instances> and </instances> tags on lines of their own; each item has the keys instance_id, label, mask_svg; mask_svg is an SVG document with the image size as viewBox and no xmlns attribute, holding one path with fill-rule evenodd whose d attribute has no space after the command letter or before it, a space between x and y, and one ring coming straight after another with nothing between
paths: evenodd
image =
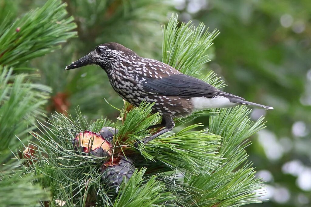
<instances>
[{"instance_id":1,"label":"bright green pine tuft fanning right from just under the bird's foot","mask_svg":"<svg viewBox=\"0 0 311 207\"><path fill-rule=\"evenodd\" d=\"M193 173L215 169L221 159L216 153L220 136L207 133L207 130L192 131L198 126L201 125L191 125L176 134L166 133L146 144L140 153L155 161L156 164L150 164L155 168L166 165L170 170L181 168Z\"/></svg>"}]
</instances>

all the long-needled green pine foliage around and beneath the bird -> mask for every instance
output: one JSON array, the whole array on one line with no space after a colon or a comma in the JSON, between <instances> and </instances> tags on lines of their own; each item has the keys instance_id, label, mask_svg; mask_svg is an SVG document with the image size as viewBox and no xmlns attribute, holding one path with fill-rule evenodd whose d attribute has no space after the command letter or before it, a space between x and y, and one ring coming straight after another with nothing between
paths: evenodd
<instances>
[{"instance_id":1,"label":"all the long-needled green pine foliage around and beneath the bird","mask_svg":"<svg viewBox=\"0 0 311 207\"><path fill-rule=\"evenodd\" d=\"M44 116L51 88L39 84L33 69L20 65L76 36L72 32L76 25L65 7L49 0L20 20L6 16L0 25L1 204L216 207L259 202L256 192L262 181L255 178L245 148L248 138L264 125L262 118L251 121L251 110L245 106L176 118L174 132L138 148L134 141L153 133L146 128L160 121L160 114L150 114L151 104L134 108L125 102L122 109L112 104L109 110L119 112L115 122L104 117L91 121L85 108L79 107L75 113ZM203 24L179 23L173 15L162 32L163 62L217 88L225 87L212 71L201 74L210 60L216 30L210 33ZM48 78L49 73L43 75ZM203 125L192 124L199 116L209 119L206 129L197 130ZM93 156L73 146L77 133L98 133L103 127L118 129L111 155ZM101 166L120 155L133 160L134 173L115 187L103 179Z\"/></svg>"}]
</instances>

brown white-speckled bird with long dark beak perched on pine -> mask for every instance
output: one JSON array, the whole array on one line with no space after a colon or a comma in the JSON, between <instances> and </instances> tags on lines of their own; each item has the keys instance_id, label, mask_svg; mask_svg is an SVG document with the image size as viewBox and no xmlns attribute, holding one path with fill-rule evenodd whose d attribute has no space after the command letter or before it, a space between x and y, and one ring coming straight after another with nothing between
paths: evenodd
<instances>
[{"instance_id":1,"label":"brown white-speckled bird with long dark beak perched on pine","mask_svg":"<svg viewBox=\"0 0 311 207\"><path fill-rule=\"evenodd\" d=\"M65 69L71 70L86 65L99 65L107 73L112 88L133 106L138 107L143 101L154 103L151 113L160 112L162 121L147 129L161 130L145 137L141 141L143 144L172 130L175 117L184 117L196 110L237 105L273 109L220 91L170 65L141 57L119 43L100 44L88 55L67 65ZM134 146L138 146L138 142Z\"/></svg>"}]
</instances>

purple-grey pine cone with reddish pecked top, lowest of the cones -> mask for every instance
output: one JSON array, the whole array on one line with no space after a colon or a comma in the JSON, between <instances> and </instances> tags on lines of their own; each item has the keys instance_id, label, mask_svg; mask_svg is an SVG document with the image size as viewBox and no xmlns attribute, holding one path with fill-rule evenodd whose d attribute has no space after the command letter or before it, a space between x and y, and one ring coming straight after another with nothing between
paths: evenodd
<instances>
[{"instance_id":1,"label":"purple-grey pine cone with reddish pecked top, lowest of the cones","mask_svg":"<svg viewBox=\"0 0 311 207\"><path fill-rule=\"evenodd\" d=\"M133 161L130 158L119 156L102 165L103 180L110 186L120 187L123 179L129 180L134 173Z\"/></svg>"}]
</instances>

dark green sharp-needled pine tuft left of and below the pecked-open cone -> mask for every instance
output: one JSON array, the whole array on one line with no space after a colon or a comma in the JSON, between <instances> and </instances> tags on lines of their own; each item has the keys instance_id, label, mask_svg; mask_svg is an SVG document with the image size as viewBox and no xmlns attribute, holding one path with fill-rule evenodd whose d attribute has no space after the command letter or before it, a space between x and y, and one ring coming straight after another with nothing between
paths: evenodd
<instances>
[{"instance_id":1,"label":"dark green sharp-needled pine tuft left of and below the pecked-open cone","mask_svg":"<svg viewBox=\"0 0 311 207\"><path fill-rule=\"evenodd\" d=\"M85 156L85 153L77 153L72 147L72 138L76 133L86 129L98 132L103 126L109 126L109 121L99 119L89 124L79 110L77 113L75 120L71 116L56 114L45 123L39 122L39 131L31 132L35 142L29 141L29 146L35 146L35 150L21 168L26 174L39 176L34 182L50 189L53 195L50 206L55 205L55 200L85 206L93 200L94 193L98 202L110 205L115 190L100 181L102 174L99 166L106 158ZM22 161L17 155L16 159ZM91 201L88 196L91 196Z\"/></svg>"}]
</instances>

